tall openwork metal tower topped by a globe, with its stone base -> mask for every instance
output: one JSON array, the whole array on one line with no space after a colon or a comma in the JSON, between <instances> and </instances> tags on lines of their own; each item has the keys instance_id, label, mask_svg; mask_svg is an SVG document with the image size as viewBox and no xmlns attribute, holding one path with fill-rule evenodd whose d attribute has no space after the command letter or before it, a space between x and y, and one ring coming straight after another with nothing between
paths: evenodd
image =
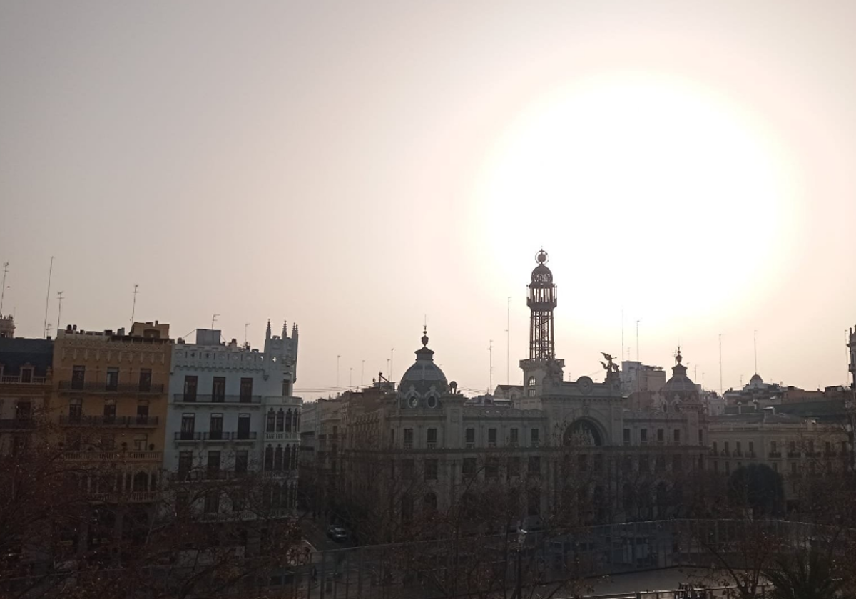
<instances>
[{"instance_id":1,"label":"tall openwork metal tower topped by a globe, with its stone base","mask_svg":"<svg viewBox=\"0 0 856 599\"><path fill-rule=\"evenodd\" d=\"M529 306L529 359L520 360L527 397L541 395L552 383L562 383L564 360L556 359L553 310L556 309L556 284L547 268L549 256L542 249L535 256L538 266L532 270L527 288Z\"/></svg>"}]
</instances>

